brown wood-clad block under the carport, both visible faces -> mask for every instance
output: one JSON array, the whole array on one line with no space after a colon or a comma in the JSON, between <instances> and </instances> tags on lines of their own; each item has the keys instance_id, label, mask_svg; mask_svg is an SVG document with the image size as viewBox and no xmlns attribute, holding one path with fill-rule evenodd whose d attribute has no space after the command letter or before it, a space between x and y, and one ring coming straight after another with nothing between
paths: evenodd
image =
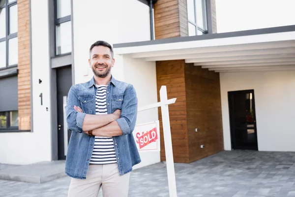
<instances>
[{"instance_id":1,"label":"brown wood-clad block under the carport, both visible faces","mask_svg":"<svg viewBox=\"0 0 295 197\"><path fill-rule=\"evenodd\" d=\"M167 86L174 161L190 163L223 150L219 73L185 64L156 62L157 91ZM159 95L158 95L158 100ZM165 161L161 109L161 161ZM199 131L195 132L195 128ZM200 146L205 145L204 149Z\"/></svg>"}]
</instances>

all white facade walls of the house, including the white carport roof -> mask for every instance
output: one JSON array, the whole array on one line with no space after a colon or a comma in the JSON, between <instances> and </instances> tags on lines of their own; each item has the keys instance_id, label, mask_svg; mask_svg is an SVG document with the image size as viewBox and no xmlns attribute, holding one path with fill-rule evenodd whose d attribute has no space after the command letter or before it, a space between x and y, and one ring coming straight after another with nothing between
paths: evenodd
<instances>
[{"instance_id":1,"label":"all white facade walls of the house, including the white carport roof","mask_svg":"<svg viewBox=\"0 0 295 197\"><path fill-rule=\"evenodd\" d=\"M33 132L1 133L0 163L51 161L56 154L52 152L57 149L52 145L56 143L52 141L51 125L56 118L52 111L56 109L50 100L53 93L48 2L30 1ZM95 41L118 44L150 40L149 7L138 0L86 0L83 3L72 0L72 7L75 84L93 76L88 59L89 47ZM295 31L291 31L115 48L112 74L134 85L138 105L142 107L157 102L155 61L185 60L220 72L225 150L232 149L228 91L254 89L258 149L295 151L294 36ZM40 105L41 93L43 105ZM158 109L150 109L138 113L137 124L155 120L158 120ZM142 163L134 168L160 162L159 152L140 155Z\"/></svg>"}]
</instances>

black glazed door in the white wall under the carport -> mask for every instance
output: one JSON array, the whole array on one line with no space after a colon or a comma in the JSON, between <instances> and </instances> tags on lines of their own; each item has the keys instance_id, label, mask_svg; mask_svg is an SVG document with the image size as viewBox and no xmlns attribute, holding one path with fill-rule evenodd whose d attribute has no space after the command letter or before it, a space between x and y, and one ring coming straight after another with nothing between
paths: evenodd
<instances>
[{"instance_id":1,"label":"black glazed door in the white wall under the carport","mask_svg":"<svg viewBox=\"0 0 295 197\"><path fill-rule=\"evenodd\" d=\"M258 150L254 90L228 92L233 149Z\"/></svg>"}]
</instances>

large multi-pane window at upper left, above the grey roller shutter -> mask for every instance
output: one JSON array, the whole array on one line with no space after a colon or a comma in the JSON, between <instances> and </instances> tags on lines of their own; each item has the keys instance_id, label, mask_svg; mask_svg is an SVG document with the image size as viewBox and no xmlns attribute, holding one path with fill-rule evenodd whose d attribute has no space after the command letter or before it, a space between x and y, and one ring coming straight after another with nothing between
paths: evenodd
<instances>
[{"instance_id":1,"label":"large multi-pane window at upper left, above the grey roller shutter","mask_svg":"<svg viewBox=\"0 0 295 197\"><path fill-rule=\"evenodd\" d=\"M0 69L17 66L17 0L0 0Z\"/></svg>"}]
</instances>

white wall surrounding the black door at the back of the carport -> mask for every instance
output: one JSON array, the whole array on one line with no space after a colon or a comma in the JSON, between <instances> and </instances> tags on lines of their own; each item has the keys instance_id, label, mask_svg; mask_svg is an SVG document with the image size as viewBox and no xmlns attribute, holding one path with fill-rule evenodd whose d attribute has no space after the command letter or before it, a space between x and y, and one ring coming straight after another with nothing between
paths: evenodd
<instances>
[{"instance_id":1,"label":"white wall surrounding the black door at the back of the carport","mask_svg":"<svg viewBox=\"0 0 295 197\"><path fill-rule=\"evenodd\" d=\"M254 89L259 151L295 151L295 71L220 73L224 148L231 150L228 91Z\"/></svg>"}]
</instances>

